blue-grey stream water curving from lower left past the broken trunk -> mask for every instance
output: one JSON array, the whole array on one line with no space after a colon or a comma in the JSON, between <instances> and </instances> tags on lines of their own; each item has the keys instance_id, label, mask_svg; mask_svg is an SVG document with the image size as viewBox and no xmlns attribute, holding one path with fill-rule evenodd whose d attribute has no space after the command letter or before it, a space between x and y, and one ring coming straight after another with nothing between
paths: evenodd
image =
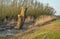
<instances>
[{"instance_id":1,"label":"blue-grey stream water curving from lower left past the broken trunk","mask_svg":"<svg viewBox=\"0 0 60 39\"><path fill-rule=\"evenodd\" d=\"M0 35L14 35L20 32L24 32L28 29L29 25L32 25L33 23L24 23L22 26L22 29L16 30L16 29L4 29L0 31Z\"/></svg>"}]
</instances>

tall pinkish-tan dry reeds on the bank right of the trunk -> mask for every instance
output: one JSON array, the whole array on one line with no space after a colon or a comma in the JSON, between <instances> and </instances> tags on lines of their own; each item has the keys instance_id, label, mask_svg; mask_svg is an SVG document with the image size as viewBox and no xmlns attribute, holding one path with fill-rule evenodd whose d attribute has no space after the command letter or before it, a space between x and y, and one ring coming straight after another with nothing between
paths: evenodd
<instances>
[{"instance_id":1,"label":"tall pinkish-tan dry reeds on the bank right of the trunk","mask_svg":"<svg viewBox=\"0 0 60 39\"><path fill-rule=\"evenodd\" d=\"M56 19L55 16L40 16L36 19L35 25L44 24L45 22Z\"/></svg>"}]
</instances>

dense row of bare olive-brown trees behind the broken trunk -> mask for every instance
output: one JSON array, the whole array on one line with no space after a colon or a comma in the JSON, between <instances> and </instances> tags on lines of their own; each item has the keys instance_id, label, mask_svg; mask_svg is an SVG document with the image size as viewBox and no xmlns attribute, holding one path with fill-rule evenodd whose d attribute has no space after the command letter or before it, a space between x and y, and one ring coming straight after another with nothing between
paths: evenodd
<instances>
[{"instance_id":1,"label":"dense row of bare olive-brown trees behind the broken trunk","mask_svg":"<svg viewBox=\"0 0 60 39\"><path fill-rule=\"evenodd\" d=\"M37 0L0 0L0 20L6 17L17 19L21 6L27 7L26 16L37 18L40 15L54 15L55 10L49 4L44 5Z\"/></svg>"}]
</instances>

